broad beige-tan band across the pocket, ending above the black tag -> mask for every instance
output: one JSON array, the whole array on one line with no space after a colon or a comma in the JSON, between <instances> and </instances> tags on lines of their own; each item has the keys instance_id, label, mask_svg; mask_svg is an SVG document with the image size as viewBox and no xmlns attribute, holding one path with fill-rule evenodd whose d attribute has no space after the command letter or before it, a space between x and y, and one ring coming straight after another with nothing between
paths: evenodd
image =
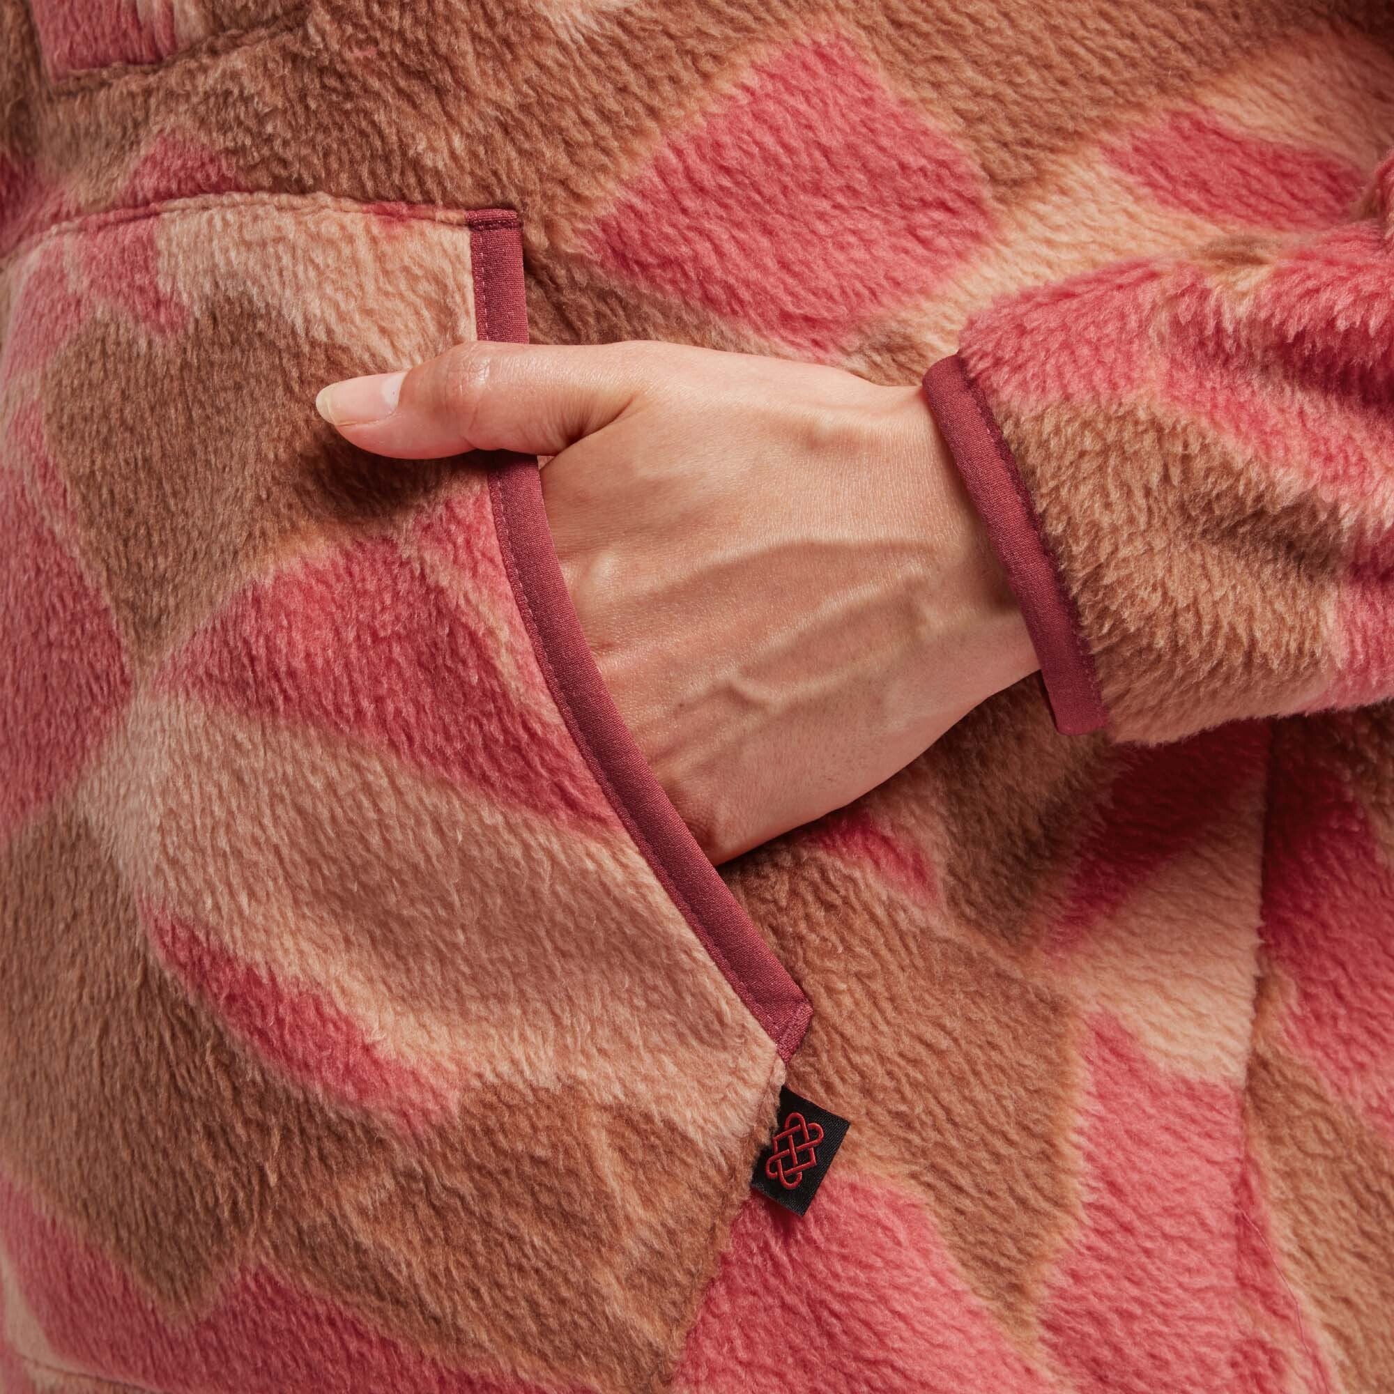
<instances>
[{"instance_id":1,"label":"broad beige-tan band across the pocket, ending above the black tag","mask_svg":"<svg viewBox=\"0 0 1394 1394\"><path fill-rule=\"evenodd\" d=\"M453 1090L579 1085L707 1147L769 1073L772 1043L623 834L178 700L134 705L84 807L142 898Z\"/></svg>"}]
</instances>

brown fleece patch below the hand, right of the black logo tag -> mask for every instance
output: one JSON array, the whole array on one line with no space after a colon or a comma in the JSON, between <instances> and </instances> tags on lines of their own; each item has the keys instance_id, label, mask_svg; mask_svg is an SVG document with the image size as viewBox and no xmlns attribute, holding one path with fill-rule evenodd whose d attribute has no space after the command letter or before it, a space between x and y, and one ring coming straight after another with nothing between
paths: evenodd
<instances>
[{"instance_id":1,"label":"brown fleece patch below the hand, right of the black logo tag","mask_svg":"<svg viewBox=\"0 0 1394 1394\"><path fill-rule=\"evenodd\" d=\"M867 871L797 841L757 856L742 901L814 1005L790 1087L855 1114L838 1165L920 1196L969 1285L1030 1349L1073 1210L1068 998Z\"/></svg>"}]
</instances>

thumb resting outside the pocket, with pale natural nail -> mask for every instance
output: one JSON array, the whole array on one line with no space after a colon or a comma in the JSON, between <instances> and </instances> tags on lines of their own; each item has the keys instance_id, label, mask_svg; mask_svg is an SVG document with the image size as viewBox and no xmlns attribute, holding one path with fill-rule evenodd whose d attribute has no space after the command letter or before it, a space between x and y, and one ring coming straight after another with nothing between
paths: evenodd
<instances>
[{"instance_id":1,"label":"thumb resting outside the pocket, with pale natural nail","mask_svg":"<svg viewBox=\"0 0 1394 1394\"><path fill-rule=\"evenodd\" d=\"M315 407L344 439L397 460L558 454L638 395L634 347L456 344L407 372L330 383Z\"/></svg>"}]
</instances>

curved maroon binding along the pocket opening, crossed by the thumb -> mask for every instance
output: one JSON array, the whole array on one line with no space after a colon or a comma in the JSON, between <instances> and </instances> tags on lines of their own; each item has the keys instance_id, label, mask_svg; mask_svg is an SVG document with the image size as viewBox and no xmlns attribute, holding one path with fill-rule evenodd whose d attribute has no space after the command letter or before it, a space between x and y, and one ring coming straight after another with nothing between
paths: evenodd
<instances>
[{"instance_id":1,"label":"curved maroon binding along the pocket opening, crossed by the thumb","mask_svg":"<svg viewBox=\"0 0 1394 1394\"><path fill-rule=\"evenodd\" d=\"M495 226L482 236L477 230L471 248L480 337L526 343L517 226ZM803 1040L813 1006L697 846L615 710L552 546L537 463L500 456L489 492L519 612L577 749L654 875L788 1059Z\"/></svg>"}]
</instances>

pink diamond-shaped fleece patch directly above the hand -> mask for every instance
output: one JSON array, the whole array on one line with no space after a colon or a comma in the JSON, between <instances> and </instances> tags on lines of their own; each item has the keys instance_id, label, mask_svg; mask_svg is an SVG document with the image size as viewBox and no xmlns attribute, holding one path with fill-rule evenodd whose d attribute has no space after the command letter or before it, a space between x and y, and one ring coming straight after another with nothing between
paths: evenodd
<instances>
[{"instance_id":1,"label":"pink diamond-shaped fleece patch directly above the hand","mask_svg":"<svg viewBox=\"0 0 1394 1394\"><path fill-rule=\"evenodd\" d=\"M991 233L969 151L842 39L754 64L676 123L585 237L605 268L835 355L924 300Z\"/></svg>"}]
</instances>

